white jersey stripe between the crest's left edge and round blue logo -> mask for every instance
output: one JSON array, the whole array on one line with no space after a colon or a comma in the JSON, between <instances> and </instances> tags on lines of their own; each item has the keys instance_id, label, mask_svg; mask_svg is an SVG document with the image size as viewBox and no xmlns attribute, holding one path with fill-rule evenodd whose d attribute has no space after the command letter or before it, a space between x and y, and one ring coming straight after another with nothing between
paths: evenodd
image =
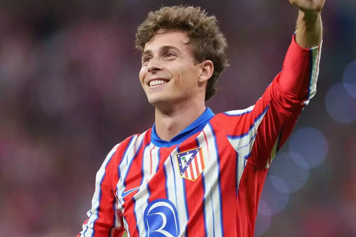
<instances>
[{"instance_id":1,"label":"white jersey stripe between the crest's left edge and round blue logo","mask_svg":"<svg viewBox=\"0 0 356 237\"><path fill-rule=\"evenodd\" d=\"M187 209L188 205L185 203L185 190L183 187L184 179L179 174L179 164L176 158L177 148L171 153L170 157L164 162L166 172L169 174L169 180L166 180L166 187L168 190L168 200L176 206L179 216L180 235L185 235L185 226L188 223ZM162 157L161 157L162 159ZM175 200L175 201L174 201Z\"/></svg>"}]
</instances>

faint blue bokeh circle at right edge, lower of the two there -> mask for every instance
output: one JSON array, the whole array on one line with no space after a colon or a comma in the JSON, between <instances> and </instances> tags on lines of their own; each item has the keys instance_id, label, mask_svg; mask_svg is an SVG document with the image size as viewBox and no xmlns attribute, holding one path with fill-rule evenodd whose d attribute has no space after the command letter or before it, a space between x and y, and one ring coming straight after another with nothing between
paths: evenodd
<instances>
[{"instance_id":1,"label":"faint blue bokeh circle at right edge, lower of the two there","mask_svg":"<svg viewBox=\"0 0 356 237\"><path fill-rule=\"evenodd\" d=\"M356 119L356 98L350 96L341 83L326 93L325 106L329 115L339 123L349 124Z\"/></svg>"}]
</instances>

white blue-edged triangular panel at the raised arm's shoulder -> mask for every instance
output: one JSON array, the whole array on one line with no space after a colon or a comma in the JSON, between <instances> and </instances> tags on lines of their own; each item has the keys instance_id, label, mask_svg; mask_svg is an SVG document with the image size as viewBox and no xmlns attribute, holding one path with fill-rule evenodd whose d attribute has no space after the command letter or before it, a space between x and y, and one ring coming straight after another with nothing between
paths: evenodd
<instances>
[{"instance_id":1,"label":"white blue-edged triangular panel at the raised arm's shoulder","mask_svg":"<svg viewBox=\"0 0 356 237\"><path fill-rule=\"evenodd\" d=\"M265 111L258 117L253 127L248 130L247 134L237 138L228 137L232 147L234 147L235 151L243 158L247 158L250 155L253 143L255 142L257 135L258 126L260 126L263 118L265 117L265 114L267 113L267 110L268 109L265 109Z\"/></svg>"}]
</instances>

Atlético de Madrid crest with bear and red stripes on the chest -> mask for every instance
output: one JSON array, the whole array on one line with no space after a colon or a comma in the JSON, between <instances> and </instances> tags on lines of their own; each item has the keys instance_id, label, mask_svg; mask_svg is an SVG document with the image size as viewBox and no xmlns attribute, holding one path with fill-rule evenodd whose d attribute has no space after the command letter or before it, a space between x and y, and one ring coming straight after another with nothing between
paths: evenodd
<instances>
[{"instance_id":1,"label":"Atl\u00e9tico de Madrid crest with bear and red stripes on the chest","mask_svg":"<svg viewBox=\"0 0 356 237\"><path fill-rule=\"evenodd\" d=\"M179 164L179 173L183 178L195 181L205 168L201 147L180 152L176 157Z\"/></svg>"}]
</instances>

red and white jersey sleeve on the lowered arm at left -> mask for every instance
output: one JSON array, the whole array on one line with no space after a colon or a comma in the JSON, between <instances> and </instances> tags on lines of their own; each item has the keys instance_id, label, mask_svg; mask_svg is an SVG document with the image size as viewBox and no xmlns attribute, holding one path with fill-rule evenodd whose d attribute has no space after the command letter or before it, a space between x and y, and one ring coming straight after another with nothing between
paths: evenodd
<instances>
[{"instance_id":1,"label":"red and white jersey sleeve on the lowered arm at left","mask_svg":"<svg viewBox=\"0 0 356 237\"><path fill-rule=\"evenodd\" d=\"M87 212L89 218L83 223L83 230L77 237L121 237L125 231L122 213L117 210L115 198L117 180L115 152L119 145L109 152L96 173L91 210Z\"/></svg>"}]
</instances>

